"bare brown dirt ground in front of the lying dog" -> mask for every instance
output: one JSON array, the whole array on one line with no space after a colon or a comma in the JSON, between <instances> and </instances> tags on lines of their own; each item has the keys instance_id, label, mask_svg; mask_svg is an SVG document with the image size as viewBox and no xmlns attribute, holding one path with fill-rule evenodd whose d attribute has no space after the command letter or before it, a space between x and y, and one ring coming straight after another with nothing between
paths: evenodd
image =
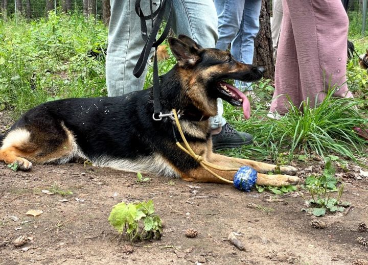
<instances>
[{"instance_id":1,"label":"bare brown dirt ground in front of the lying dog","mask_svg":"<svg viewBox=\"0 0 368 265\"><path fill-rule=\"evenodd\" d=\"M4 129L8 120L1 115L0 120ZM150 181L137 183L136 174L78 163L13 172L1 163L0 264L337 265L368 259L368 248L356 241L368 237L357 229L360 222L368 223L368 178L343 179L342 199L352 208L319 218L327 227L318 230L310 225L314 218L301 211L304 199L296 192L274 196L229 185L148 177ZM73 194L41 191L52 185ZM108 215L113 205L138 200L153 200L165 223L164 235L134 243L133 252L124 253L129 242L110 226ZM250 202L261 207L247 207ZM26 215L30 209L43 213ZM187 238L188 228L198 230L198 236ZM232 231L242 233L238 238L245 251L226 240ZM13 241L20 235L30 240L16 248Z\"/></svg>"}]
</instances>

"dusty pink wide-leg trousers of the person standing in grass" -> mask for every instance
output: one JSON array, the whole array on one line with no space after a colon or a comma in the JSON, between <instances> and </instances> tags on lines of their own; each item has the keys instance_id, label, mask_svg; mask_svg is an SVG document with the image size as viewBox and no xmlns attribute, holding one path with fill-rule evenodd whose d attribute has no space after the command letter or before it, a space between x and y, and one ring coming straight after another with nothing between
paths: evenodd
<instances>
[{"instance_id":1,"label":"dusty pink wide-leg trousers of the person standing in grass","mask_svg":"<svg viewBox=\"0 0 368 265\"><path fill-rule=\"evenodd\" d=\"M323 101L329 88L353 97L346 84L348 16L341 0L283 0L275 91L270 112L285 114Z\"/></svg>"}]
</instances>

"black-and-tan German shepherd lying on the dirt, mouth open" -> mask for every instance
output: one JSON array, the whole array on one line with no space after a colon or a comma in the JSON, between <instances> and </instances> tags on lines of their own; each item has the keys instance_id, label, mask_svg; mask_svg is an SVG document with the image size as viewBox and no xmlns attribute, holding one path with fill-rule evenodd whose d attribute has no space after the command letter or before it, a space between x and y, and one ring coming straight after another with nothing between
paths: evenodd
<instances>
[{"instance_id":1,"label":"black-and-tan German shepherd lying on the dirt, mouth open","mask_svg":"<svg viewBox=\"0 0 368 265\"><path fill-rule=\"evenodd\" d=\"M208 117L217 113L217 98L240 106L239 90L226 79L256 81L264 69L237 62L231 54L203 49L191 38L168 39L177 64L160 77L162 113L183 110L180 125L190 146L204 160L219 166L249 165L259 174L257 184L296 184L292 166L281 166L282 174L265 175L275 165L231 158L212 152ZM178 177L186 181L221 180L180 150L174 141L170 118L154 121L152 88L121 97L65 99L43 103L24 114L2 136L0 160L30 170L33 163L62 164L75 158L88 159L96 166L129 172ZM203 118L204 117L204 118ZM179 135L175 127L176 135ZM233 180L235 172L214 170Z\"/></svg>"}]
</instances>

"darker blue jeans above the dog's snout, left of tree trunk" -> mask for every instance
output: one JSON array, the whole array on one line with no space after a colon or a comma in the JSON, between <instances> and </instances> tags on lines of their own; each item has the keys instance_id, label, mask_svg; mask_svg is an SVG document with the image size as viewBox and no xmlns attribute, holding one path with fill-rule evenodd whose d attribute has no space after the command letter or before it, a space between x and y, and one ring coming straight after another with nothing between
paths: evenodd
<instances>
[{"instance_id":1,"label":"darker blue jeans above the dog's snout, left of tree trunk","mask_svg":"<svg viewBox=\"0 0 368 265\"><path fill-rule=\"evenodd\" d=\"M219 39L216 48L227 50L242 63L251 64L254 39L259 31L262 0L214 0L218 16ZM251 90L250 83L235 81L240 90Z\"/></svg>"}]
</instances>

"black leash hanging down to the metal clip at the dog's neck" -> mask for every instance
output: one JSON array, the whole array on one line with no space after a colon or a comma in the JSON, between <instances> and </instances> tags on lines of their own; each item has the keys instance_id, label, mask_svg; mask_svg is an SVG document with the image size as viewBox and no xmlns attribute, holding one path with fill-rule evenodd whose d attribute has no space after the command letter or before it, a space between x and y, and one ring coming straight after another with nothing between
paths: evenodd
<instances>
[{"instance_id":1,"label":"black leash hanging down to the metal clip at the dog's neck","mask_svg":"<svg viewBox=\"0 0 368 265\"><path fill-rule=\"evenodd\" d=\"M151 14L145 16L141 9L141 0L136 0L135 2L135 13L141 18L141 33L143 40L146 41L143 51L140 55L140 58L137 61L137 64L134 67L133 75L136 78L139 78L147 64L147 60L149 54L151 52L152 47L155 49L154 60L153 60L153 119L155 121L162 120L162 112L161 112L161 103L159 99L159 79L158 79L158 65L157 65L157 47L161 44L167 35L169 34L170 24L171 24L171 13L172 13L172 1L170 1L170 9L168 13L168 18L166 21L166 27L162 35L156 40L156 36L158 30L163 22L163 17L166 9L166 0L160 1L160 4L156 11L152 12L152 0L150 0L150 8ZM152 30L147 38L147 25L146 20L151 20Z\"/></svg>"}]
</instances>

